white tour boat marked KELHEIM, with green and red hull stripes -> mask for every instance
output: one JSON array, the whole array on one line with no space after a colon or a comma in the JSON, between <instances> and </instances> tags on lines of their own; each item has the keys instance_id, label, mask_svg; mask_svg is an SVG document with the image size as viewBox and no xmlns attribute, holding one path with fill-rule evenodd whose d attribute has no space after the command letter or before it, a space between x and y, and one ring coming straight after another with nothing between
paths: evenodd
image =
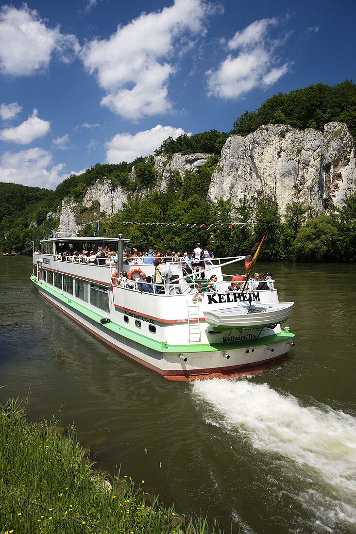
<instances>
[{"instance_id":1,"label":"white tour boat marked KELHEIM, with green and red hull stripes","mask_svg":"<svg viewBox=\"0 0 356 534\"><path fill-rule=\"evenodd\" d=\"M232 290L225 266L236 264L242 270L238 262L245 256L204 261L203 270L189 275L180 261L163 258L162 286L158 292L152 284L154 292L148 293L136 284L128 288L118 283L121 270L154 277L152 263L125 265L128 241L121 234L117 239L69 234L43 239L41 250L33 254L31 279L45 299L91 334L169 380L236 376L287 356L294 334L281 324L293 303L278 302L276 289L252 289L251 281L243 293ZM117 250L118 265L74 254L104 245ZM70 261L61 259L63 251L71 253ZM216 293L193 301L197 282L205 289L213 274Z\"/></svg>"}]
</instances>

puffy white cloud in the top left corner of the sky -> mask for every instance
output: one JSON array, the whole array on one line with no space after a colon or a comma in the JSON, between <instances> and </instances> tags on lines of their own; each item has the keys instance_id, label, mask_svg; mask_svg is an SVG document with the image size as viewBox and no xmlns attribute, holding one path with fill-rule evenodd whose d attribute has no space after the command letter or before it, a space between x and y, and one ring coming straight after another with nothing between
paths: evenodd
<instances>
[{"instance_id":1,"label":"puffy white cloud in the top left corner of the sky","mask_svg":"<svg viewBox=\"0 0 356 534\"><path fill-rule=\"evenodd\" d=\"M69 62L79 52L74 35L47 28L36 10L4 5L0 10L0 70L12 76L29 76L47 68L53 52Z\"/></svg>"}]
</instances>

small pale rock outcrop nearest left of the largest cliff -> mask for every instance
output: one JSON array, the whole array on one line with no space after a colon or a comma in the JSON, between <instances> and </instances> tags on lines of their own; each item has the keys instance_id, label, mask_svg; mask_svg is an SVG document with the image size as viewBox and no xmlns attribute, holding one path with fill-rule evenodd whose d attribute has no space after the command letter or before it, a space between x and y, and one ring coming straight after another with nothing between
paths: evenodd
<instances>
[{"instance_id":1,"label":"small pale rock outcrop nearest left of the largest cliff","mask_svg":"<svg viewBox=\"0 0 356 534\"><path fill-rule=\"evenodd\" d=\"M176 154L173 154L172 159L169 159L166 154L155 156L154 168L157 169L159 174L163 174L160 191L166 189L169 172L176 169L180 176L183 177L185 171L192 172L199 169L199 167L202 167L211 155L212 154L199 153L183 155L177 152Z\"/></svg>"}]
</instances>

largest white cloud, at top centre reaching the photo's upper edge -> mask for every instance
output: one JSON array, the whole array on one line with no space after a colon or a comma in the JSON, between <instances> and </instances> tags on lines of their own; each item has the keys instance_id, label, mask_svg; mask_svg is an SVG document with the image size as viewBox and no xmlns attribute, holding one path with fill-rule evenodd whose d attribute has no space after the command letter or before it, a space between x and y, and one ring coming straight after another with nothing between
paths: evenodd
<instances>
[{"instance_id":1,"label":"largest white cloud, at top centre reaching the photo's upper edge","mask_svg":"<svg viewBox=\"0 0 356 534\"><path fill-rule=\"evenodd\" d=\"M175 0L171 7L119 26L109 40L88 43L82 59L106 91L101 104L131 120L168 112L167 85L176 68L169 60L192 36L205 33L210 10L201 0Z\"/></svg>"}]
</instances>

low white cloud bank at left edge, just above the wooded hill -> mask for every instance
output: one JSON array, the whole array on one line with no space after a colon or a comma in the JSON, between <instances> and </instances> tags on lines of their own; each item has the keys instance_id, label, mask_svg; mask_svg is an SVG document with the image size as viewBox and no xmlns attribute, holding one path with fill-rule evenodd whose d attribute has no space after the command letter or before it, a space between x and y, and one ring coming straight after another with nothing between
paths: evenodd
<instances>
[{"instance_id":1,"label":"low white cloud bank at left edge, just above the wooded hill","mask_svg":"<svg viewBox=\"0 0 356 534\"><path fill-rule=\"evenodd\" d=\"M52 165L52 155L43 148L5 152L0 160L0 182L54 189L67 175L59 175L64 163Z\"/></svg>"}]
</instances>

